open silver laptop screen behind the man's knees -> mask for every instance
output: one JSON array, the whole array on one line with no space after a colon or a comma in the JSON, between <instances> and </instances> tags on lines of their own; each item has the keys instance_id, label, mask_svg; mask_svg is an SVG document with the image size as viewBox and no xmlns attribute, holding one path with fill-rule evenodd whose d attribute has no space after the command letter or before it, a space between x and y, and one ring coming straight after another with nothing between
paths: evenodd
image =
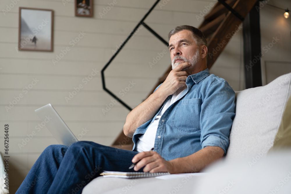
<instances>
[{"instance_id":1,"label":"open silver laptop screen behind the man's knees","mask_svg":"<svg viewBox=\"0 0 291 194\"><path fill-rule=\"evenodd\" d=\"M45 127L52 133L59 144L70 146L78 141L51 104L42 106L35 111L40 120L45 122Z\"/></svg>"}]
</instances>

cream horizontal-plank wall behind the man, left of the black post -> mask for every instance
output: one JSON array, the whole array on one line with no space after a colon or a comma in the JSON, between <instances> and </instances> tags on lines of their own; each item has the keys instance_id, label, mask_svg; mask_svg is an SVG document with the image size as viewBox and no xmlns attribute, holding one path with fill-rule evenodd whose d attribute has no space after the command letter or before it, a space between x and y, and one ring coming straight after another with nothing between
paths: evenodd
<instances>
[{"instance_id":1,"label":"cream horizontal-plank wall behind the man, left of the black post","mask_svg":"<svg viewBox=\"0 0 291 194\"><path fill-rule=\"evenodd\" d=\"M61 0L20 0L5 15L0 13L0 127L9 124L9 176L10 193L18 186L36 161L40 153L50 144L56 144L46 128L37 131L40 123L34 110L48 103L53 104L73 133L78 136L82 128L88 133L81 140L91 140L110 145L120 133L129 112L119 103L105 115L102 109L113 98L102 90L100 74L93 76L88 84L82 79L91 74L92 69L101 71L112 56L112 50L125 40L134 26L145 15L155 0L117 0L117 4L102 18L99 12L112 0L95 0L94 17L75 17L74 1L65 6ZM198 26L196 15L209 6L212 0L170 0L161 7L156 6L145 22L167 40L167 33L175 26L188 24ZM0 8L6 9L11 0L1 0ZM48 8L54 10L54 52L17 51L18 8ZM54 65L52 59L61 53L69 42L84 31L86 35ZM243 89L243 76L239 82L240 38L239 32L230 41L219 57L211 73L221 76L233 86ZM107 68L106 85L131 107L137 106L148 95L170 64L167 51L158 63L150 68L149 62L166 49L157 38L145 28L136 33L113 63ZM25 94L22 89L36 78L39 82ZM119 95L129 81L136 83L123 97ZM239 86L241 83L241 86ZM74 87L83 84L84 88L68 103L65 96ZM24 97L8 112L5 106L19 94ZM0 128L1 129L1 128ZM29 142L19 149L22 139L36 131ZM4 132L0 134L3 146ZM4 147L0 148L4 152Z\"/></svg>"}]
</instances>

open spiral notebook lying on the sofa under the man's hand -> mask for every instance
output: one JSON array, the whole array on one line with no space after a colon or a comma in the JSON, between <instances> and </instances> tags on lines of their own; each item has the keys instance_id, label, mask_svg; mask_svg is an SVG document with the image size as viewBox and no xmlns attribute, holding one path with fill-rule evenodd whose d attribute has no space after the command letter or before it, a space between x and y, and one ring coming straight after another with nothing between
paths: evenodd
<instances>
[{"instance_id":1,"label":"open spiral notebook lying on the sofa under the man's hand","mask_svg":"<svg viewBox=\"0 0 291 194\"><path fill-rule=\"evenodd\" d=\"M117 172L117 171L103 171L100 175L103 177L118 177L118 178L146 178L146 177L157 177L162 175L169 175L170 172Z\"/></svg>"}]
</instances>

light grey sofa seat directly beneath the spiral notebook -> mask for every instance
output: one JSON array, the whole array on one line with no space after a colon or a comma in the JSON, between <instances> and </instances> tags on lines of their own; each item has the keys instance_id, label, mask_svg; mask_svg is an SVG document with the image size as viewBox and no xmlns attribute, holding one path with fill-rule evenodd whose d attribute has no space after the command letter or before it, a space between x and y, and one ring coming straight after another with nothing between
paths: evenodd
<instances>
[{"instance_id":1,"label":"light grey sofa seat directly beneath the spiral notebook","mask_svg":"<svg viewBox=\"0 0 291 194\"><path fill-rule=\"evenodd\" d=\"M203 176L205 173L184 173L137 179L97 177L84 187L82 194L193 193L194 184Z\"/></svg>"}]
</instances>

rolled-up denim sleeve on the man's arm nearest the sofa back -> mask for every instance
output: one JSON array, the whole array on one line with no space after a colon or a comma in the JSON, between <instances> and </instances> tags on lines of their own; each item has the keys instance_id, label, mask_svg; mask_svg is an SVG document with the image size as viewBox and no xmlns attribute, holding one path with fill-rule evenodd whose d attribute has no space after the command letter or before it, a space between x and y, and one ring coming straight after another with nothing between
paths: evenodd
<instances>
[{"instance_id":1,"label":"rolled-up denim sleeve on the man's arm nearest the sofa back","mask_svg":"<svg viewBox=\"0 0 291 194\"><path fill-rule=\"evenodd\" d=\"M201 105L201 146L218 146L226 154L230 129L235 117L235 92L226 81L208 89Z\"/></svg>"}]
</instances>

